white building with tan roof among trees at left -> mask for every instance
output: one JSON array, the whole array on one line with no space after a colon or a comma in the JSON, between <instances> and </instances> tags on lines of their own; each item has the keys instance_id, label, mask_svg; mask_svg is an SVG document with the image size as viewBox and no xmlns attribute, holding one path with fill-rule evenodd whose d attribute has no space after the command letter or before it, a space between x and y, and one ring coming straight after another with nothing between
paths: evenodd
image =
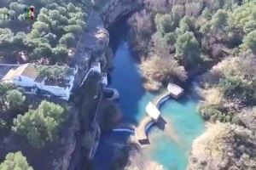
<instances>
[{"instance_id":1,"label":"white building with tan roof among trees at left","mask_svg":"<svg viewBox=\"0 0 256 170\"><path fill-rule=\"evenodd\" d=\"M1 65L2 67L4 65ZM41 65L44 67L43 65ZM47 69L60 67L57 65L45 66ZM64 68L64 67L62 67ZM13 65L13 67L2 75L3 82L14 83L16 86L25 88L26 93L55 96L68 100L73 88L74 76L77 69L65 67L65 76L58 79L40 77L36 65Z\"/></svg>"}]
</instances>

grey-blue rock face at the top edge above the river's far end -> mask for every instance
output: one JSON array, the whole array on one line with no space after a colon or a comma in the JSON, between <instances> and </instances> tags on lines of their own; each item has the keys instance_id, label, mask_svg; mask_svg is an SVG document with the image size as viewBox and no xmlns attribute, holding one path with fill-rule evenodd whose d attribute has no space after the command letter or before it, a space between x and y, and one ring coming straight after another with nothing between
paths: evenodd
<instances>
[{"instance_id":1,"label":"grey-blue rock face at the top edge above the river's far end","mask_svg":"<svg viewBox=\"0 0 256 170\"><path fill-rule=\"evenodd\" d=\"M108 0L102 8L102 18L108 27L125 14L141 7L143 0Z\"/></svg>"}]
</instances>

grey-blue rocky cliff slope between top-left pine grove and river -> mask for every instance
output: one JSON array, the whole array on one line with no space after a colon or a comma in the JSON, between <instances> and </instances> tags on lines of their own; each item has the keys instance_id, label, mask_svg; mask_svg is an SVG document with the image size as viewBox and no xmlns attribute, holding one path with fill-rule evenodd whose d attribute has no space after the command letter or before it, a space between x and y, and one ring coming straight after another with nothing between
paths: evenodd
<instances>
[{"instance_id":1,"label":"grey-blue rocky cliff slope between top-left pine grove and river","mask_svg":"<svg viewBox=\"0 0 256 170\"><path fill-rule=\"evenodd\" d=\"M90 60L102 61L102 67L107 65L106 51L108 49L109 34L104 27L101 15L92 10L87 20L86 31L81 35L79 46L73 57L72 65L78 65L79 74L76 82L79 84L89 69Z\"/></svg>"}]
</instances>

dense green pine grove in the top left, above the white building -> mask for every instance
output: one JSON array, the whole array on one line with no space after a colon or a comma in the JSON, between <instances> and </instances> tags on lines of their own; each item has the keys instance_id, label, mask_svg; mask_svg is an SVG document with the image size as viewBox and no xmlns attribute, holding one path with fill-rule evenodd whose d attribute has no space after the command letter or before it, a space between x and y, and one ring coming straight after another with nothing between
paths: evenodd
<instances>
[{"instance_id":1,"label":"dense green pine grove in the top left, above the white building","mask_svg":"<svg viewBox=\"0 0 256 170\"><path fill-rule=\"evenodd\" d=\"M83 2L9 0L5 5L1 2L0 14L17 19L0 22L0 48L3 49L0 55L11 61L67 63L86 26L89 3ZM24 8L31 4L35 6L35 20L25 20Z\"/></svg>"}]
</instances>

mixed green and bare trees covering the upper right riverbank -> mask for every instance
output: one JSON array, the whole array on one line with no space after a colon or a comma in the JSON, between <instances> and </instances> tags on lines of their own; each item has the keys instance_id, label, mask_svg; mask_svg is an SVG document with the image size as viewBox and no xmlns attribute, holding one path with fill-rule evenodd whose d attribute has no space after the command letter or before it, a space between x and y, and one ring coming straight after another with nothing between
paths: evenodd
<instances>
[{"instance_id":1,"label":"mixed green and bare trees covering the upper right riverbank","mask_svg":"<svg viewBox=\"0 0 256 170\"><path fill-rule=\"evenodd\" d=\"M254 1L143 3L145 8L132 15L130 24L147 88L184 81L225 56L255 54Z\"/></svg>"}]
</instances>

